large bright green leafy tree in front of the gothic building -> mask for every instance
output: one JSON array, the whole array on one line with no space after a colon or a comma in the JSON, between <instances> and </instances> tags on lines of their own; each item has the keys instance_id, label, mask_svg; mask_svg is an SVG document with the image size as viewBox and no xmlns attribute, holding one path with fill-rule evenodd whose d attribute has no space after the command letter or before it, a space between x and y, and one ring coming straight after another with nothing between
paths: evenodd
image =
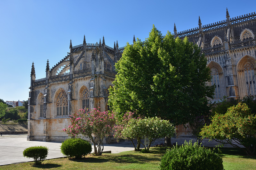
<instances>
[{"instance_id":1,"label":"large bright green leafy tree in front of the gothic building","mask_svg":"<svg viewBox=\"0 0 256 170\"><path fill-rule=\"evenodd\" d=\"M109 104L122 116L136 111L158 116L174 124L187 123L209 112L207 97L211 79L200 49L185 38L165 36L153 26L145 41L127 43L116 63L115 85Z\"/></svg>"}]
</instances>

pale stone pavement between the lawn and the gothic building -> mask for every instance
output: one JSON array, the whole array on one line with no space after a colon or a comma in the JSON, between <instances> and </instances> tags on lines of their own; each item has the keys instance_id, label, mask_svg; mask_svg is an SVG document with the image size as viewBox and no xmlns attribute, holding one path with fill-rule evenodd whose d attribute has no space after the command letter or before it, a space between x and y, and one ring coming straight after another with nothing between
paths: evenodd
<instances>
[{"instance_id":1,"label":"pale stone pavement between the lawn and the gothic building","mask_svg":"<svg viewBox=\"0 0 256 170\"><path fill-rule=\"evenodd\" d=\"M184 140L189 141L193 139L192 141L195 141L193 137L191 138L172 138L172 143L178 143L178 145L181 145L184 143ZM204 146L215 146L217 143L215 141L210 141L204 139L202 142L202 145ZM151 146L154 146L156 144L164 143L163 139L158 139L155 141L154 144ZM27 141L27 134L17 134L17 135L3 135L0 137L0 166L1 165L7 165L7 164L13 164L13 163L20 163L20 162L28 162L33 161L31 158L25 158L23 157L22 152L24 149L30 147L30 146L47 146L49 148L49 154L47 156L47 159L52 158L60 158L64 157L64 155L60 152L60 142L41 142L41 141ZM142 146L141 146L142 147ZM226 146L231 147L231 146ZM124 151L132 151L134 149L131 142L119 142L119 143L113 143L113 144L104 144L104 150L103 151L111 151L112 153L119 153ZM93 152L93 149L92 149Z\"/></svg>"}]
</instances>

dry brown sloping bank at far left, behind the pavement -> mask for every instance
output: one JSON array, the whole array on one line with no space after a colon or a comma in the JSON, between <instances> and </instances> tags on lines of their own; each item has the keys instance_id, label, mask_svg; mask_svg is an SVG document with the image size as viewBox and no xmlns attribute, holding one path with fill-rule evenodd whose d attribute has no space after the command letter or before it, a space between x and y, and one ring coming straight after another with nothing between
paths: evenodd
<instances>
[{"instance_id":1,"label":"dry brown sloping bank at far left, behind the pavement","mask_svg":"<svg viewBox=\"0 0 256 170\"><path fill-rule=\"evenodd\" d=\"M19 124L0 124L0 133L4 134L26 134L28 133L28 125L25 123Z\"/></svg>"}]
</instances>

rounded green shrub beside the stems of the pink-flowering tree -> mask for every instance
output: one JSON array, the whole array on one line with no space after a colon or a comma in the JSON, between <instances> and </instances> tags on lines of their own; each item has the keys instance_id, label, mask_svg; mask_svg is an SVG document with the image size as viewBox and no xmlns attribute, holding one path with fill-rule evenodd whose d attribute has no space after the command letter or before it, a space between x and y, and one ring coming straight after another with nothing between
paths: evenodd
<instances>
[{"instance_id":1,"label":"rounded green shrub beside the stems of the pink-flowering tree","mask_svg":"<svg viewBox=\"0 0 256 170\"><path fill-rule=\"evenodd\" d=\"M92 145L84 139L71 138L62 142L60 150L63 155L80 159L92 152Z\"/></svg>"}]
</instances>

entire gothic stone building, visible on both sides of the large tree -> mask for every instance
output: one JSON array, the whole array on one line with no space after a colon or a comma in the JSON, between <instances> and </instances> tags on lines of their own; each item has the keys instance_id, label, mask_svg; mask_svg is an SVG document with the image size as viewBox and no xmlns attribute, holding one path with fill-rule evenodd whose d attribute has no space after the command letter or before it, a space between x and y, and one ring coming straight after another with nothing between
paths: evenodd
<instances>
[{"instance_id":1,"label":"entire gothic stone building, visible on both sides of the large tree","mask_svg":"<svg viewBox=\"0 0 256 170\"><path fill-rule=\"evenodd\" d=\"M256 13L230 18L177 32L174 37L187 37L202 49L211 69L215 86L213 101L226 96L238 99L256 96ZM135 39L133 40L135 41ZM28 109L28 140L62 141L67 134L68 115L80 108L100 107L107 110L108 88L112 85L117 62L124 48L103 43L72 47L70 53L51 70L46 66L46 78L35 80L32 64ZM183 126L177 127L177 137L189 135Z\"/></svg>"}]
</instances>

